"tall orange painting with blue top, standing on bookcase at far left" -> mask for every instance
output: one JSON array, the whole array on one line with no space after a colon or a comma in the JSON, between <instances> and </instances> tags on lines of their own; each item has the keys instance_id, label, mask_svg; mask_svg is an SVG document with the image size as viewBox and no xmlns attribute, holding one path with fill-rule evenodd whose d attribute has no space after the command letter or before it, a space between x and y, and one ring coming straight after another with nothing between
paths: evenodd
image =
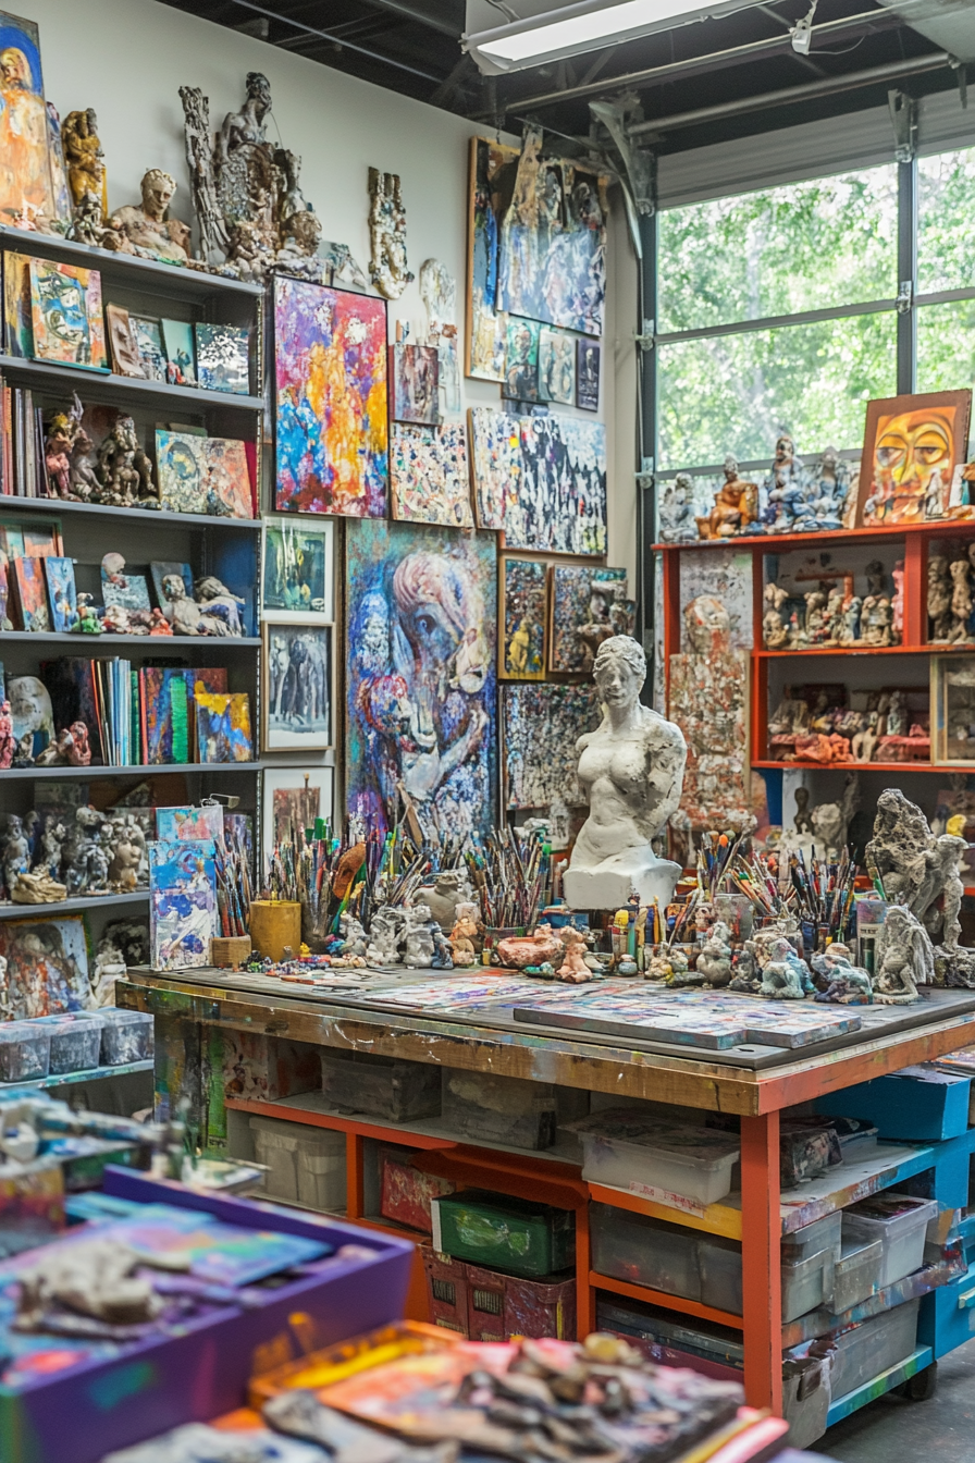
<instances>
[{"instance_id":1,"label":"tall orange painting with blue top, standing on bookcase at far left","mask_svg":"<svg viewBox=\"0 0 975 1463\"><path fill-rule=\"evenodd\" d=\"M57 218L47 142L41 41L34 20L0 12L0 217Z\"/></svg>"}]
</instances>

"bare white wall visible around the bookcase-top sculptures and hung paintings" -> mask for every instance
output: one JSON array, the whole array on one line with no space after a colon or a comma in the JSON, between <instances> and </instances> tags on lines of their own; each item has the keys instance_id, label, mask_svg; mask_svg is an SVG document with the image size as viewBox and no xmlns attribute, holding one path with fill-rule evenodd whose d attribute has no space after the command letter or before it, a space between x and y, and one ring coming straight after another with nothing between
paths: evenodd
<instances>
[{"instance_id":1,"label":"bare white wall visible around the bookcase-top sculptures and hung paintings","mask_svg":"<svg viewBox=\"0 0 975 1463\"><path fill-rule=\"evenodd\" d=\"M210 99L210 121L218 126L241 105L244 75L262 70L273 97L269 136L276 140L276 126L282 143L303 157L304 195L322 219L323 237L348 244L367 268L367 168L399 173L409 266L418 277L422 260L433 256L453 274L463 339L466 139L482 127L153 0L18 0L12 9L39 25L44 88L61 117L83 107L98 114L110 208L136 202L142 174L161 167L178 183L172 212L190 221L178 89L202 88ZM608 423L610 562L626 565L633 576L633 451L618 451L620 442L633 442L633 401L627 391L624 402L617 404L612 363L627 354L614 332L620 331L626 297L634 300L636 265L620 238L623 221L618 215L615 221L601 415ZM621 255L626 279L614 278ZM633 306L629 319L634 315ZM390 303L390 338L398 319L411 320L415 332L425 328L417 284ZM626 332L631 335L631 326ZM498 388L463 377L462 405L498 407ZM623 426L615 421L617 410L623 411Z\"/></svg>"}]
</instances>

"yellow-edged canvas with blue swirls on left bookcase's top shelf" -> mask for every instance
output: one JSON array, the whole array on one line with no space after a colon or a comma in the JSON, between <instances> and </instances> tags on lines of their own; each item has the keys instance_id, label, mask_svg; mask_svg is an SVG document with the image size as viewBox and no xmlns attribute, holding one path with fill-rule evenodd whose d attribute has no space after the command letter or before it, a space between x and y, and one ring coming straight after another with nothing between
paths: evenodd
<instances>
[{"instance_id":1,"label":"yellow-edged canvas with blue swirls on left bookcase's top shelf","mask_svg":"<svg viewBox=\"0 0 975 1463\"><path fill-rule=\"evenodd\" d=\"M98 269L32 259L31 329L37 360L108 370Z\"/></svg>"}]
</instances>

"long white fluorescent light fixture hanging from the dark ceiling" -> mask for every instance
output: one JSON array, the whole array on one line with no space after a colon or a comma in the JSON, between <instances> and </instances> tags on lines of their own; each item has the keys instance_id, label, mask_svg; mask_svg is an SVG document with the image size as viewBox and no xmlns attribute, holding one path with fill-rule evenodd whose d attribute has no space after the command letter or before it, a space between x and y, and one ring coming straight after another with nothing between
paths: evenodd
<instances>
[{"instance_id":1,"label":"long white fluorescent light fixture hanging from the dark ceiling","mask_svg":"<svg viewBox=\"0 0 975 1463\"><path fill-rule=\"evenodd\" d=\"M468 0L468 31L462 44L487 75L520 72L542 61L555 61L585 51L598 51L621 41L634 41L687 20L705 20L722 12L744 10L750 0L582 0L555 6L544 0L512 0L491 7L491 16L517 15L507 25L474 29L484 20L485 6ZM757 3L757 0L751 0ZM526 12L534 12L526 15Z\"/></svg>"}]
</instances>

